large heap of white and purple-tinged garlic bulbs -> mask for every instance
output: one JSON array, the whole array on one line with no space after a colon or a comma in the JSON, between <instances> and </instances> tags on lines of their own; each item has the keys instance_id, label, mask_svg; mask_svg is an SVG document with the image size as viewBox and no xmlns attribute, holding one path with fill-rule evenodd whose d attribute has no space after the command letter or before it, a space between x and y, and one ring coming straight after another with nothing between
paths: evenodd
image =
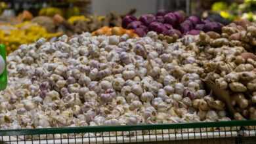
<instances>
[{"instance_id":1,"label":"large heap of white and purple-tinged garlic bulbs","mask_svg":"<svg viewBox=\"0 0 256 144\"><path fill-rule=\"evenodd\" d=\"M21 45L7 58L0 128L230 120L205 92L197 39L83 33Z\"/></svg>"}]
</instances>

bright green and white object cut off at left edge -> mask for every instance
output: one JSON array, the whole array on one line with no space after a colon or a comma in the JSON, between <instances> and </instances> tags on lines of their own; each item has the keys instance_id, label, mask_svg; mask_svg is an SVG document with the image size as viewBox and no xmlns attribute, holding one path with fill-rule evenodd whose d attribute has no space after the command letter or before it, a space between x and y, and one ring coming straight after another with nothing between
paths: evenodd
<instances>
[{"instance_id":1,"label":"bright green and white object cut off at left edge","mask_svg":"<svg viewBox=\"0 0 256 144\"><path fill-rule=\"evenodd\" d=\"M0 45L0 90L5 90L7 87L7 52L5 45Z\"/></svg>"}]
</instances>

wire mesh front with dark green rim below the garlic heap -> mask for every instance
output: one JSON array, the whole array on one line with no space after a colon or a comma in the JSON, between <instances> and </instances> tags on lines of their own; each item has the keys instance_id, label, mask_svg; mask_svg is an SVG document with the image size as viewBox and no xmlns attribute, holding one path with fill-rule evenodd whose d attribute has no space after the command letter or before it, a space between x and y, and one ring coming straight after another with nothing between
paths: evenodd
<instances>
[{"instance_id":1,"label":"wire mesh front with dark green rim below the garlic heap","mask_svg":"<svg viewBox=\"0 0 256 144\"><path fill-rule=\"evenodd\" d=\"M255 144L256 120L0 130L2 143Z\"/></svg>"}]
</instances>

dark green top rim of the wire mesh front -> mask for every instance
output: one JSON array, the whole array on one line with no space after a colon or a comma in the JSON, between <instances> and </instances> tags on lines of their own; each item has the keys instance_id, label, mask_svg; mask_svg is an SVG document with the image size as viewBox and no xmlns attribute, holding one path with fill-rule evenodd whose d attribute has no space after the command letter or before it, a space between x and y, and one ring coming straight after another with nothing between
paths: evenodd
<instances>
[{"instance_id":1,"label":"dark green top rim of the wire mesh front","mask_svg":"<svg viewBox=\"0 0 256 144\"><path fill-rule=\"evenodd\" d=\"M256 126L256 120L231 120L221 122L191 122L173 124L140 124L131 126L83 126L64 128L39 128L20 130L0 130L0 136L40 135L40 134L74 134L88 132L125 132L136 130L166 130L181 128L219 128L236 126Z\"/></svg>"}]
</instances>

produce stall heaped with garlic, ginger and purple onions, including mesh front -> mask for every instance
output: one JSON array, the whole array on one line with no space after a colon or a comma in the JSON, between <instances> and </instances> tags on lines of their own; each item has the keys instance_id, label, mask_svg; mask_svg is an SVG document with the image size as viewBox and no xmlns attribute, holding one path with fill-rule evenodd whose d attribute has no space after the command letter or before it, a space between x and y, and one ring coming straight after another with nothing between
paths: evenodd
<instances>
[{"instance_id":1,"label":"produce stall heaped with garlic, ginger and purple onions, including mesh front","mask_svg":"<svg viewBox=\"0 0 256 144\"><path fill-rule=\"evenodd\" d=\"M1 25L0 142L255 143L255 22L135 12Z\"/></svg>"}]
</instances>

